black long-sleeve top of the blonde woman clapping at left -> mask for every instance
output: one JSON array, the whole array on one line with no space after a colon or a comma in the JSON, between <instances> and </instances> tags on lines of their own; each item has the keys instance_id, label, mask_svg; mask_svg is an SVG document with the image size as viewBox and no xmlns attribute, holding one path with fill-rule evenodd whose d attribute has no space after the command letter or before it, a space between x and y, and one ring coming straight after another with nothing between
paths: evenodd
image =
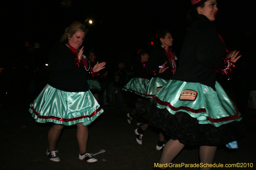
<instances>
[{"instance_id":1,"label":"black long-sleeve top of the blonde woman clapping at left","mask_svg":"<svg viewBox=\"0 0 256 170\"><path fill-rule=\"evenodd\" d=\"M49 81L52 87L65 92L88 91L84 64L77 66L76 55L64 44L57 44L49 55ZM88 70L88 68L87 68Z\"/></svg>"}]
</instances>

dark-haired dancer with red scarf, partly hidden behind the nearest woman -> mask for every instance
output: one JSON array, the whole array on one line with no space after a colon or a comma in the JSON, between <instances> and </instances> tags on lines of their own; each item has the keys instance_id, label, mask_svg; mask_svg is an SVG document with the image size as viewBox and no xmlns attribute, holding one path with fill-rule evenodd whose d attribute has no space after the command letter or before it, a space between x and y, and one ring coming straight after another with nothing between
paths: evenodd
<instances>
[{"instance_id":1,"label":"dark-haired dancer with red scarf, partly hidden behind the nearest woman","mask_svg":"<svg viewBox=\"0 0 256 170\"><path fill-rule=\"evenodd\" d=\"M156 33L158 42L156 43L155 49L150 54L150 59L148 61L148 74L152 75L153 78L150 79L146 91L145 97L152 98L156 93L164 86L172 75L176 71L176 59L175 53L172 52L172 35L168 30L161 30ZM144 102L137 103L138 109L144 109ZM142 134L148 128L148 124L135 129L136 140L140 144ZM163 150L164 148L164 135L163 132L159 133L159 140L156 145L157 150Z\"/></svg>"}]
</instances>

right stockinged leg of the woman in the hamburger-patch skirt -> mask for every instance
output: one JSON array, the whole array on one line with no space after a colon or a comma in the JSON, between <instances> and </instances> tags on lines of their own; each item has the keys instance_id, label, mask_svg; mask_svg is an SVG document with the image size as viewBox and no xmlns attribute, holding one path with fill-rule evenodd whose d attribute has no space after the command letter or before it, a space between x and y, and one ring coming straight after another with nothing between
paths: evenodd
<instances>
[{"instance_id":1,"label":"right stockinged leg of the woman in the hamburger-patch skirt","mask_svg":"<svg viewBox=\"0 0 256 170\"><path fill-rule=\"evenodd\" d=\"M203 164L211 164L215 155L217 146L200 146L200 161ZM210 167L200 167L200 170L210 170Z\"/></svg>"}]
</instances>

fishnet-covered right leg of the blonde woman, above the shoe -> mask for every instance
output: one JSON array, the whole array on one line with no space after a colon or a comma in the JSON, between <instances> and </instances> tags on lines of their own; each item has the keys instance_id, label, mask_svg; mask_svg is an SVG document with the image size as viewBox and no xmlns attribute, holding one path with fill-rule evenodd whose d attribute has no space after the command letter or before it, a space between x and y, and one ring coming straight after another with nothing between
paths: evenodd
<instances>
[{"instance_id":1,"label":"fishnet-covered right leg of the blonde woman, above the shoe","mask_svg":"<svg viewBox=\"0 0 256 170\"><path fill-rule=\"evenodd\" d=\"M89 137L88 127L83 126L83 123L78 123L76 124L76 126L77 126L76 138L78 141L79 152L80 152L80 155L83 155L84 153L86 153L86 149L87 149L87 142Z\"/></svg>"}]
</instances>

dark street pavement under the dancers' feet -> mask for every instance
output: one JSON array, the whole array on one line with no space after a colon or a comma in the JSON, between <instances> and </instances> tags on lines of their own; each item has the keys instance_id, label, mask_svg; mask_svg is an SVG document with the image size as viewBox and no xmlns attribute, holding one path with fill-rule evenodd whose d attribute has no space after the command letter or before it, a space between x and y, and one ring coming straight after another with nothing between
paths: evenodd
<instances>
[{"instance_id":1,"label":"dark street pavement under the dancers' feet","mask_svg":"<svg viewBox=\"0 0 256 170\"><path fill-rule=\"evenodd\" d=\"M106 152L96 155L98 162L88 164L78 159L78 143L76 126L66 126L57 144L60 162L52 162L46 156L48 148L47 133L51 123L37 123L28 112L30 97L4 96L0 100L1 114L1 161L3 170L151 170L154 163L161 157L156 150L158 141L157 129L151 127L144 132L142 145L135 140L133 130L137 128L137 117L128 124L126 114L132 109L123 111L115 107L103 107L104 113L89 125L89 153ZM124 100L125 101L125 100ZM124 103L125 105L125 103ZM256 115L245 112L252 126L248 133L238 141L238 149L228 149L221 146L217 149L213 163L236 164L243 163L247 167L223 167L221 169L255 169L256 167ZM167 137L168 138L168 137ZM167 142L167 141L165 141ZM173 164L199 164L198 146L185 146L172 161ZM246 163L246 164L244 164ZM253 166L253 167L248 167ZM168 169L189 170L199 168L170 167ZM212 170L220 169L218 167Z\"/></svg>"}]
</instances>

